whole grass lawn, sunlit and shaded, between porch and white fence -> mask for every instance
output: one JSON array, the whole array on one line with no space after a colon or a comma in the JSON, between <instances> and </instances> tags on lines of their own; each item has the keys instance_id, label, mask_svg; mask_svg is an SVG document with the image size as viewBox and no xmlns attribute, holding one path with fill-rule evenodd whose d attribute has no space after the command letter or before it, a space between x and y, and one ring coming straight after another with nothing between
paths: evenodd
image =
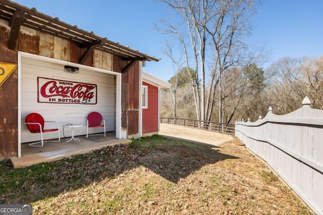
<instances>
[{"instance_id":1,"label":"whole grass lawn, sunlit and shaded, between porch and white fence","mask_svg":"<svg viewBox=\"0 0 323 215\"><path fill-rule=\"evenodd\" d=\"M0 162L0 204L33 214L311 214L246 148L154 135L52 163Z\"/></svg>"}]
</instances>

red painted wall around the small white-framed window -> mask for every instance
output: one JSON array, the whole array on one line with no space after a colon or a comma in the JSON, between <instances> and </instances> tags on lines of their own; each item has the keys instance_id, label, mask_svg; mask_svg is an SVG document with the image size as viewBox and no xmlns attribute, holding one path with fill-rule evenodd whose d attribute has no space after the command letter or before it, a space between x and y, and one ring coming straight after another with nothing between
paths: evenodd
<instances>
[{"instance_id":1,"label":"red painted wall around the small white-framed window","mask_svg":"<svg viewBox=\"0 0 323 215\"><path fill-rule=\"evenodd\" d=\"M158 88L148 83L148 108L142 109L142 133L152 133L158 131Z\"/></svg>"}]
</instances>

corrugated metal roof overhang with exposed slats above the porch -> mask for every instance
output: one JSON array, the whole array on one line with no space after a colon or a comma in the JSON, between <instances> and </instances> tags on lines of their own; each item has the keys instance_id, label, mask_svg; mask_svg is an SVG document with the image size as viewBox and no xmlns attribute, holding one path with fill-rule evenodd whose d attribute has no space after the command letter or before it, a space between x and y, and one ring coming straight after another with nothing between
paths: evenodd
<instances>
[{"instance_id":1,"label":"corrugated metal roof overhang with exposed slats above the porch","mask_svg":"<svg viewBox=\"0 0 323 215\"><path fill-rule=\"evenodd\" d=\"M95 49L120 56L125 60L131 60L132 58L140 58L148 61L160 60L153 56L149 56L146 53L131 49L129 46L124 46L118 42L108 40L106 37L103 38L95 35L93 32L84 31L77 26L69 25L60 21L57 17L52 18L42 14L35 8L29 9L9 0L0 0L0 19L9 22L17 9L23 11L25 14L25 18L21 22L22 26L73 41L80 46L99 42L99 45L97 45Z\"/></svg>"}]
</instances>

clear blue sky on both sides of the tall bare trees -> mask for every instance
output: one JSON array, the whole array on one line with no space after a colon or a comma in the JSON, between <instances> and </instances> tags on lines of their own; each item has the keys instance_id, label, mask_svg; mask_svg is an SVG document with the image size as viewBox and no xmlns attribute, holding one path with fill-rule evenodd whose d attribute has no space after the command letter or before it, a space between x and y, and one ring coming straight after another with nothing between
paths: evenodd
<instances>
[{"instance_id":1,"label":"clear blue sky on both sides of the tall bare trees","mask_svg":"<svg viewBox=\"0 0 323 215\"><path fill-rule=\"evenodd\" d=\"M172 16L154 0L13 0L70 25L106 37L140 52L161 58L147 62L144 71L168 81L173 75L163 54L167 35L153 29L158 20ZM265 46L271 62L282 57L323 55L323 0L265 0L257 7L247 42Z\"/></svg>"}]
</instances>

